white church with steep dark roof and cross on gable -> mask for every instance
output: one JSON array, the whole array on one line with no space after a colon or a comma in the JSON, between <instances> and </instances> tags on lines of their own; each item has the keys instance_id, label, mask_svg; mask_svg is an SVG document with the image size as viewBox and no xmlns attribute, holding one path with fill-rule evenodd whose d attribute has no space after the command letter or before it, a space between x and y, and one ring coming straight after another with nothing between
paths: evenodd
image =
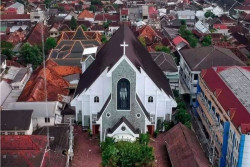
<instances>
[{"instance_id":1,"label":"white church with steep dark roof and cross on gable","mask_svg":"<svg viewBox=\"0 0 250 167\"><path fill-rule=\"evenodd\" d=\"M135 141L171 120L174 100L169 81L126 25L100 49L80 77L71 105L76 121L100 140Z\"/></svg>"}]
</instances>

